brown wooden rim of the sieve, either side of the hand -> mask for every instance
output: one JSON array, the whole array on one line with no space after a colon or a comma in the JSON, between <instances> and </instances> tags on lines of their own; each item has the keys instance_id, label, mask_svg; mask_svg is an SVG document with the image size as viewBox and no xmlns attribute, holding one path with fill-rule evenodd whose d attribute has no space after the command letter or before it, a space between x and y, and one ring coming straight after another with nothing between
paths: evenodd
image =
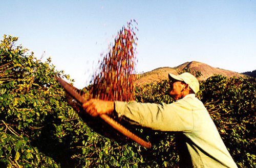
<instances>
[{"instance_id":1,"label":"brown wooden rim of the sieve, either side of the hand","mask_svg":"<svg viewBox=\"0 0 256 168\"><path fill-rule=\"evenodd\" d=\"M57 81L62 85L62 87L70 94L72 97L78 101L79 103L83 104L87 100L83 99L83 97L77 92L77 88L69 84L68 82L62 80L61 78L57 78ZM151 148L151 142L148 141L146 142L145 140L141 139L131 131L127 130L125 127L123 127L120 123L116 122L113 118L111 118L109 115L106 114L101 114L99 115L103 121L108 123L110 126L112 126L114 129L122 133L124 136L131 138L135 142L139 143L140 145L146 147L146 148Z\"/></svg>"}]
</instances>

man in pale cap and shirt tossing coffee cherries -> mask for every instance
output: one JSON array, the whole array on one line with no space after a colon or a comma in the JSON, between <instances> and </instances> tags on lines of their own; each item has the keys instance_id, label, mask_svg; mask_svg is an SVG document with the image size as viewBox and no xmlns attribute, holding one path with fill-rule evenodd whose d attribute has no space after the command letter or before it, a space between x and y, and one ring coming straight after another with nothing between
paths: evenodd
<instances>
[{"instance_id":1,"label":"man in pale cap and shirt tossing coffee cherries","mask_svg":"<svg viewBox=\"0 0 256 168\"><path fill-rule=\"evenodd\" d=\"M143 127L177 132L180 167L237 167L203 103L196 98L199 82L189 73L169 74L168 94L176 102L152 104L101 101L83 104L93 116L117 113Z\"/></svg>"}]
</instances>

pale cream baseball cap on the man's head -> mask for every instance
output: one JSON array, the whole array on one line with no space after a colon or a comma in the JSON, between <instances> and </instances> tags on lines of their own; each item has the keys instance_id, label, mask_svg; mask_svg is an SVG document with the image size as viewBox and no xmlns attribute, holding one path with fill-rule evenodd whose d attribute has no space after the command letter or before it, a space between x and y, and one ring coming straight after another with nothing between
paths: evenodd
<instances>
[{"instance_id":1,"label":"pale cream baseball cap on the man's head","mask_svg":"<svg viewBox=\"0 0 256 168\"><path fill-rule=\"evenodd\" d=\"M180 75L169 74L168 76L170 80L175 79L177 81L185 82L195 93L199 91L199 82L197 78L190 73L183 73Z\"/></svg>"}]
</instances>

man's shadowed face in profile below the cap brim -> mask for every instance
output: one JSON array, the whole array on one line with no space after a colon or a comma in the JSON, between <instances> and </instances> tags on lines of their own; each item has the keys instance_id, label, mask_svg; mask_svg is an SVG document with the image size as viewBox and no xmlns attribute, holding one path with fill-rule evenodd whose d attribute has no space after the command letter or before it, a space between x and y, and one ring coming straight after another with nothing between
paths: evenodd
<instances>
[{"instance_id":1,"label":"man's shadowed face in profile below the cap brim","mask_svg":"<svg viewBox=\"0 0 256 168\"><path fill-rule=\"evenodd\" d=\"M170 88L168 90L168 94L174 98L175 100L179 100L183 98L185 84L181 81L170 81Z\"/></svg>"}]
</instances>

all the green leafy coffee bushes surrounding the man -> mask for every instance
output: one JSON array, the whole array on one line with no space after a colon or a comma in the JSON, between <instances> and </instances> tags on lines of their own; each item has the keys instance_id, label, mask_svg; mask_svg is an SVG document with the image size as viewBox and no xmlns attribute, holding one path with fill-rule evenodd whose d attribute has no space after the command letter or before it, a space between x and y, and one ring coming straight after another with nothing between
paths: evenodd
<instances>
[{"instance_id":1,"label":"all the green leafy coffee bushes surrounding the man","mask_svg":"<svg viewBox=\"0 0 256 168\"><path fill-rule=\"evenodd\" d=\"M0 167L177 167L173 134L134 128L153 143L145 149L96 133L69 106L55 80L69 76L16 41L4 36L0 44ZM198 93L239 167L255 167L255 85L214 76ZM168 87L167 81L137 87L136 100L172 103Z\"/></svg>"}]
</instances>

